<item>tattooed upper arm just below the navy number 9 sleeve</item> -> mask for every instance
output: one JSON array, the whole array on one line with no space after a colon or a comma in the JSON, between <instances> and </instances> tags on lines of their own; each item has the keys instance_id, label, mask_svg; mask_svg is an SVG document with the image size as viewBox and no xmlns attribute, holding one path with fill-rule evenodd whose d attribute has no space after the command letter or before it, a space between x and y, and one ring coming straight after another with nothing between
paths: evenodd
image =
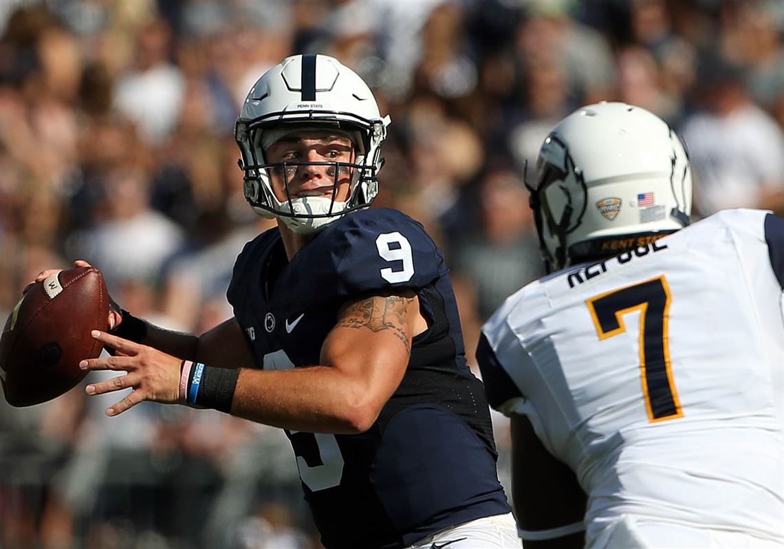
<instances>
[{"instance_id":1,"label":"tattooed upper arm just below the navy number 9 sleeve","mask_svg":"<svg viewBox=\"0 0 784 549\"><path fill-rule=\"evenodd\" d=\"M338 314L337 327L371 329L373 332L392 330L405 350L411 354L411 341L405 332L408 323L408 306L416 297L373 296L347 304Z\"/></svg>"}]
</instances>

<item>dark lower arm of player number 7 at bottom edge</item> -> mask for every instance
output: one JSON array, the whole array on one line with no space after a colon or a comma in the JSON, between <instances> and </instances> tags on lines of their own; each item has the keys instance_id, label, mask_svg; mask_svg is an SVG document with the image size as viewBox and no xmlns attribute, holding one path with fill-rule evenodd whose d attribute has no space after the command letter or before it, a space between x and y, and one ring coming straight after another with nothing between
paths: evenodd
<instances>
[{"instance_id":1,"label":"dark lower arm of player number 7 at bottom edge","mask_svg":"<svg viewBox=\"0 0 784 549\"><path fill-rule=\"evenodd\" d=\"M586 494L569 467L536 436L528 416L512 414L512 499L527 549L583 547Z\"/></svg>"}]
</instances>

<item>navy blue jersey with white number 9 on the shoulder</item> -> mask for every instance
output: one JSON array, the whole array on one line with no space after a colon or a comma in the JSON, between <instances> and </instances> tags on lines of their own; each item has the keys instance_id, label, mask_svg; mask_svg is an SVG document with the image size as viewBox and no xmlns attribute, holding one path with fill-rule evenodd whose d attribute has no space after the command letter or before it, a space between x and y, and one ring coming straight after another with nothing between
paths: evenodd
<instances>
[{"instance_id":1,"label":"navy blue jersey with white number 9 on the shoulder","mask_svg":"<svg viewBox=\"0 0 784 549\"><path fill-rule=\"evenodd\" d=\"M289 263L278 229L245 245L228 299L256 365L317 365L339 307L412 289L429 328L378 420L361 434L289 432L325 547L405 547L510 511L481 382L466 366L452 285L423 227L393 209L344 216Z\"/></svg>"}]
</instances>

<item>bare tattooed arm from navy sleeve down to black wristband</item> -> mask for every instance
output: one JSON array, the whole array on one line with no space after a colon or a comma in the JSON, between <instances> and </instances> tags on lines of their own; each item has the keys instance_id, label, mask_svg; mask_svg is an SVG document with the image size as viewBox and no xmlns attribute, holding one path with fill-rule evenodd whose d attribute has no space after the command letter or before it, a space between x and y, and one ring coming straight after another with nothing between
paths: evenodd
<instances>
[{"instance_id":1,"label":"bare tattooed arm from navy sleeve down to black wristband","mask_svg":"<svg viewBox=\"0 0 784 549\"><path fill-rule=\"evenodd\" d=\"M400 384L426 329L413 293L353 300L321 347L321 365L240 371L231 413L296 431L359 433Z\"/></svg>"}]
</instances>

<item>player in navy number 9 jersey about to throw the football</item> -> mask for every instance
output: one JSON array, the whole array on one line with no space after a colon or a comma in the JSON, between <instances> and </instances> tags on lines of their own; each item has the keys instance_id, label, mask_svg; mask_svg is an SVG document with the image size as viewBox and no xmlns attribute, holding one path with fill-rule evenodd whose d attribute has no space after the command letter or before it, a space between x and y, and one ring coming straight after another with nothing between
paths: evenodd
<instances>
[{"instance_id":1,"label":"player in navy number 9 jersey about to throw the football","mask_svg":"<svg viewBox=\"0 0 784 549\"><path fill-rule=\"evenodd\" d=\"M389 123L332 57L267 71L234 133L245 198L278 227L238 256L234 317L196 337L113 314L96 337L117 353L82 366L127 375L87 392L132 388L110 416L151 400L282 427L325 547L520 547L443 255L368 209Z\"/></svg>"}]
</instances>

